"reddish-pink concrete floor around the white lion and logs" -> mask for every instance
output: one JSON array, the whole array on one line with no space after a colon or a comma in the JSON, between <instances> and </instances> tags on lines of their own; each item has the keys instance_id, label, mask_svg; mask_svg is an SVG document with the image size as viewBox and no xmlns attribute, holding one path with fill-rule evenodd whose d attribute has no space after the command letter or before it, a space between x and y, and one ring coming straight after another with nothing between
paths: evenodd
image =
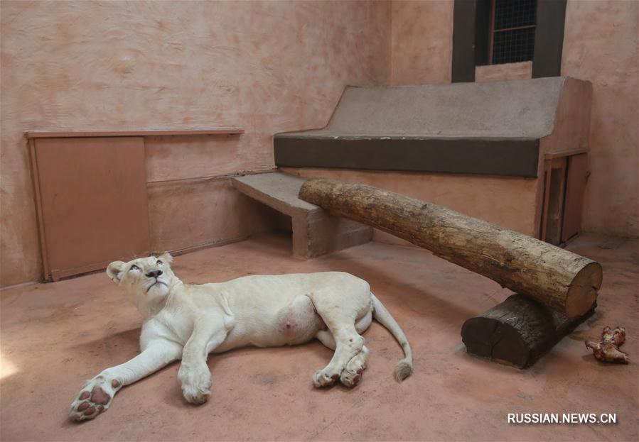
<instances>
[{"instance_id":1,"label":"reddish-pink concrete floor around the white lion and logs","mask_svg":"<svg viewBox=\"0 0 639 442\"><path fill-rule=\"evenodd\" d=\"M209 359L213 395L187 404L178 364L122 389L95 421L68 407L85 379L138 350L140 318L103 273L1 292L2 441L636 441L638 241L586 235L571 250L603 264L596 314L529 370L466 354L463 321L503 300L498 284L426 250L382 243L326 258L291 258L269 235L176 258L184 282L247 274L344 270L368 280L406 332L415 372L392 378L402 352L379 324L365 333L370 368L355 389L314 389L331 351L314 342L241 348ZM628 330L630 365L594 360L584 339L605 325ZM616 425L507 423L508 413L616 413Z\"/></svg>"}]
</instances>

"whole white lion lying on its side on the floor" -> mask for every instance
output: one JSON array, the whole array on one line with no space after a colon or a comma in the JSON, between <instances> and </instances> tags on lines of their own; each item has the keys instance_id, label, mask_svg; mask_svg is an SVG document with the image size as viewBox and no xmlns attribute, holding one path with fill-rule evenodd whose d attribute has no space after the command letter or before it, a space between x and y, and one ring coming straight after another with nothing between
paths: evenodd
<instances>
[{"instance_id":1,"label":"whole white lion lying on its side on the floor","mask_svg":"<svg viewBox=\"0 0 639 442\"><path fill-rule=\"evenodd\" d=\"M114 394L182 359L178 380L188 402L210 395L208 353L242 346L294 345L317 338L335 350L331 362L313 375L316 387L338 380L356 385L366 368L368 350L360 336L372 318L397 339L404 359L394 375L404 380L413 370L404 332L367 282L343 272L254 275L212 284L184 284L171 271L173 258L139 258L109 264L107 275L126 292L144 316L141 353L107 368L82 387L71 405L73 419L93 419L106 411Z\"/></svg>"}]
</instances>

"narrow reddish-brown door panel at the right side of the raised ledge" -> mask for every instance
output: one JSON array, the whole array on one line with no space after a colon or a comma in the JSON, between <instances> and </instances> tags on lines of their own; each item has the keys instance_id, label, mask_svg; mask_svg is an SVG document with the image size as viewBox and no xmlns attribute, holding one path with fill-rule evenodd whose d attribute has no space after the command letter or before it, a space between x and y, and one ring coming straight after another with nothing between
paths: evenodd
<instances>
[{"instance_id":1,"label":"narrow reddish-brown door panel at the right side of the raised ledge","mask_svg":"<svg viewBox=\"0 0 639 442\"><path fill-rule=\"evenodd\" d=\"M581 211L584 208L584 191L588 176L588 155L572 155L568 158L566 179L566 208L562 241L568 241L581 231Z\"/></svg>"}]
</instances>

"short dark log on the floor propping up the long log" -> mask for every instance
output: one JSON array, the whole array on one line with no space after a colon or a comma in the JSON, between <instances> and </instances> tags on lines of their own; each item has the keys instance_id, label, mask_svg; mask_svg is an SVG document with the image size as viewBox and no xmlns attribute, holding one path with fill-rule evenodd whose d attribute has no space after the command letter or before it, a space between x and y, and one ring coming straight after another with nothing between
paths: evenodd
<instances>
[{"instance_id":1,"label":"short dark log on the floor propping up the long log","mask_svg":"<svg viewBox=\"0 0 639 442\"><path fill-rule=\"evenodd\" d=\"M468 353L495 362L530 367L591 314L566 318L539 302L513 294L483 314L468 319L461 338Z\"/></svg>"}]
</instances>

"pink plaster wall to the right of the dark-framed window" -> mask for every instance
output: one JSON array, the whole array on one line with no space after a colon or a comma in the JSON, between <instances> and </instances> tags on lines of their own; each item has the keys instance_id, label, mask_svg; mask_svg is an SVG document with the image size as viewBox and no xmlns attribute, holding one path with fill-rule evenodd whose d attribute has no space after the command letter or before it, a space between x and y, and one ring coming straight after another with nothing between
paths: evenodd
<instances>
[{"instance_id":1,"label":"pink plaster wall to the right of the dark-framed window","mask_svg":"<svg viewBox=\"0 0 639 442\"><path fill-rule=\"evenodd\" d=\"M584 229L639 236L637 1L569 0L562 74L593 86Z\"/></svg>"}]
</instances>

